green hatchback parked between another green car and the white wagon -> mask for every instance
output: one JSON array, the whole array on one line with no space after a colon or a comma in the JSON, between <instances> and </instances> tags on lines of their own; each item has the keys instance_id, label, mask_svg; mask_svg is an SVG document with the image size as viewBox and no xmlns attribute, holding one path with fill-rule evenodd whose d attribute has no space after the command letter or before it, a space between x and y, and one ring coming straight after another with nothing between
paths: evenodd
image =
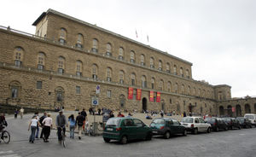
<instances>
[{"instance_id":1,"label":"green hatchback parked between another green car and the white wagon","mask_svg":"<svg viewBox=\"0 0 256 157\"><path fill-rule=\"evenodd\" d=\"M185 126L181 125L176 119L159 118L154 119L149 125L152 129L153 135L162 135L166 139L174 134L187 135Z\"/></svg>"}]
</instances>

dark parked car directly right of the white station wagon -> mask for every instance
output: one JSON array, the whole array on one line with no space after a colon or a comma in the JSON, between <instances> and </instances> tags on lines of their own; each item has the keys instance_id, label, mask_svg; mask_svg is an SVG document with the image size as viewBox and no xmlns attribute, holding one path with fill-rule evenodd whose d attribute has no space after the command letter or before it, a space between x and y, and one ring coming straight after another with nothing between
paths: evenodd
<instances>
[{"instance_id":1,"label":"dark parked car directly right of the white station wagon","mask_svg":"<svg viewBox=\"0 0 256 157\"><path fill-rule=\"evenodd\" d=\"M228 131L229 129L226 123L224 122L224 120L221 118L212 117L212 118L207 118L205 120L208 124L212 125L211 128L213 131L219 131L219 130Z\"/></svg>"}]
</instances>

